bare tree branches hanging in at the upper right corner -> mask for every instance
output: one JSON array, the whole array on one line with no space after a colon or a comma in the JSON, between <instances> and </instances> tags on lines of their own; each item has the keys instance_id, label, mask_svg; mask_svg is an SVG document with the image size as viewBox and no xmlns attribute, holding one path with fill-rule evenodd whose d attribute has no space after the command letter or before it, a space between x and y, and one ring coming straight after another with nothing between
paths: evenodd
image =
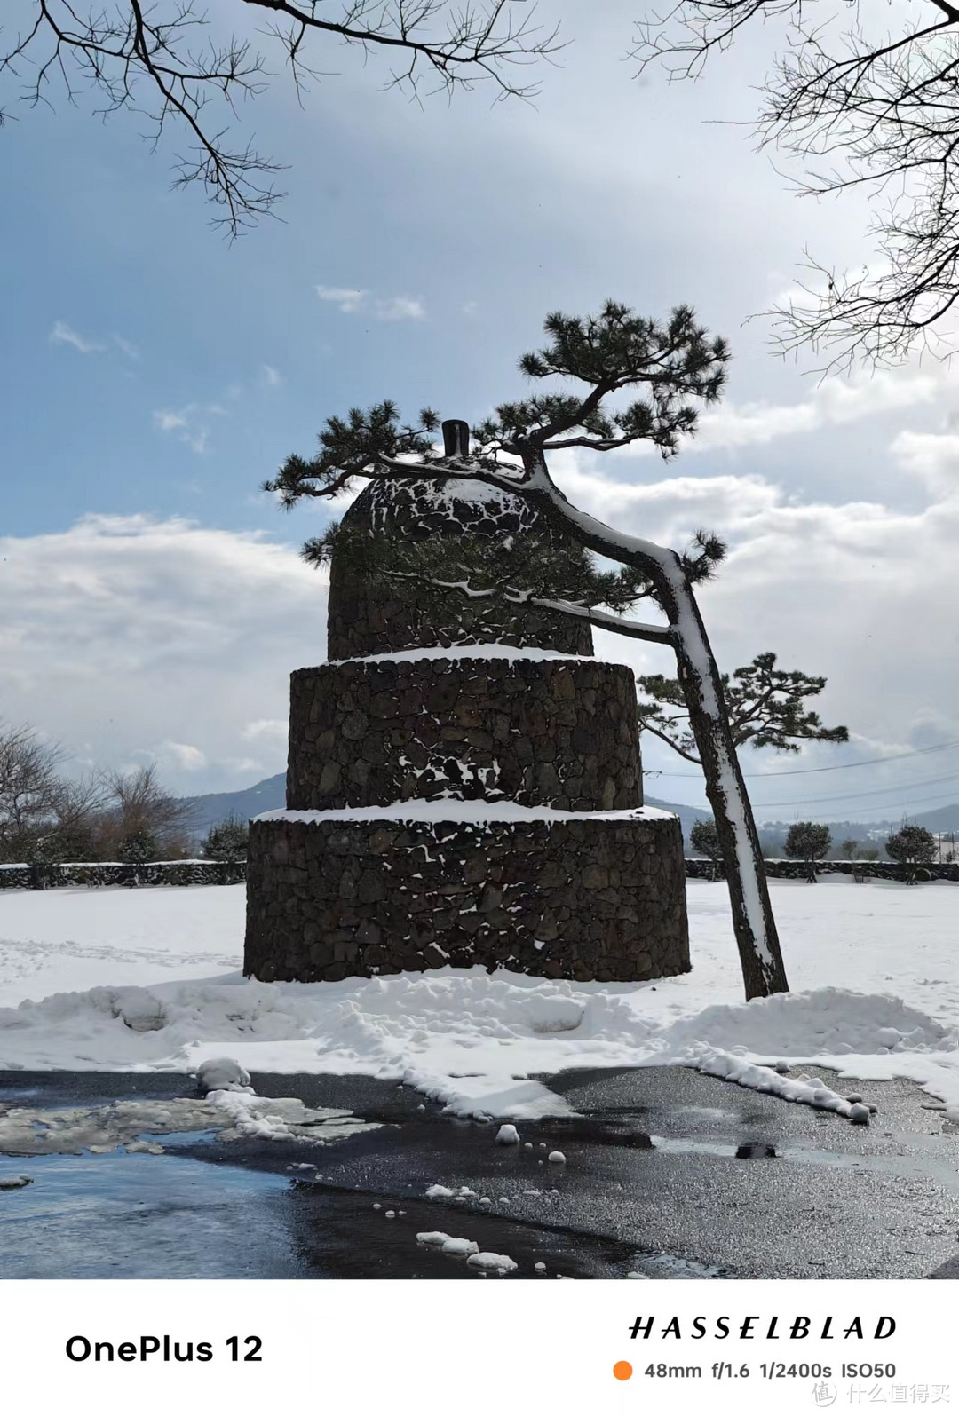
<instances>
[{"instance_id":1,"label":"bare tree branches hanging in at the upper right corner","mask_svg":"<svg viewBox=\"0 0 959 1416\"><path fill-rule=\"evenodd\" d=\"M810 259L809 278L772 312L783 351L829 350L830 368L956 344L959 7L921 4L925 16L909 18L853 0L843 23L822 0L679 0L640 27L640 65L664 59L673 78L686 78L745 24L781 21L782 52L756 122L761 146L799 159L800 194L861 188L875 211L871 268L841 272Z\"/></svg>"}]
</instances>

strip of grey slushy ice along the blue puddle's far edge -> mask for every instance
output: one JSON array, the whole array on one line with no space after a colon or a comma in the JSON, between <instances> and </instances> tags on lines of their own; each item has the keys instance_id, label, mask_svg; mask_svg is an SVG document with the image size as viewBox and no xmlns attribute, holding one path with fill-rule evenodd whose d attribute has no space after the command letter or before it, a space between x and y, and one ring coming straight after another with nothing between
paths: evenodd
<instances>
[{"instance_id":1,"label":"strip of grey slushy ice along the blue puddle's far edge","mask_svg":"<svg viewBox=\"0 0 959 1416\"><path fill-rule=\"evenodd\" d=\"M105 1155L120 1148L154 1154L164 1140L215 1136L220 1141L271 1140L323 1146L378 1121L336 1107L305 1106L297 1097L214 1092L205 1099L118 1100L105 1106L31 1107L0 1103L0 1154ZM176 1140L174 1140L176 1137Z\"/></svg>"}]
</instances>

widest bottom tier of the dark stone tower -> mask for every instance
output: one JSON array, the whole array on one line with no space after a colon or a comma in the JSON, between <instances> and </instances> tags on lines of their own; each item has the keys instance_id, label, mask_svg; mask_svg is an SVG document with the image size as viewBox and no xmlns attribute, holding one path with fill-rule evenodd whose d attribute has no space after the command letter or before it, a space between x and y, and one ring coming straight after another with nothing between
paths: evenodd
<instances>
[{"instance_id":1,"label":"widest bottom tier of the dark stone tower","mask_svg":"<svg viewBox=\"0 0 959 1416\"><path fill-rule=\"evenodd\" d=\"M244 973L690 967L679 821L254 821Z\"/></svg>"}]
</instances>

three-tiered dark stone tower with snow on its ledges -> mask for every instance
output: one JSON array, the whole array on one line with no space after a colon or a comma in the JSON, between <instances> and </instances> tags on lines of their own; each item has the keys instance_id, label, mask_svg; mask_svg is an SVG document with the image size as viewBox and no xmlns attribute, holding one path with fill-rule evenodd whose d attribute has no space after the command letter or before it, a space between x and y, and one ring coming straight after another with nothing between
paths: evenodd
<instances>
[{"instance_id":1,"label":"three-tiered dark stone tower with snow on its ledges","mask_svg":"<svg viewBox=\"0 0 959 1416\"><path fill-rule=\"evenodd\" d=\"M466 480L371 483L343 525L367 569L384 535L555 537ZM329 658L292 675L286 811L251 826L246 974L688 970L679 821L643 809L633 674L588 623L334 555Z\"/></svg>"}]
</instances>

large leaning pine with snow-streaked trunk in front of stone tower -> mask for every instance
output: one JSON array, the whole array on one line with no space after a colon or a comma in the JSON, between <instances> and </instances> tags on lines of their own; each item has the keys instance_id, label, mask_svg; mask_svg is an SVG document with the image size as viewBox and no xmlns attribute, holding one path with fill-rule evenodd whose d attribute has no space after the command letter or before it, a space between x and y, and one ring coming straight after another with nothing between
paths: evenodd
<instances>
[{"instance_id":1,"label":"large leaning pine with snow-streaked trunk in front of stone tower","mask_svg":"<svg viewBox=\"0 0 959 1416\"><path fill-rule=\"evenodd\" d=\"M501 404L475 429L472 450L469 429L452 421L443 425L442 450L435 445L439 418L432 409L424 409L412 426L399 422L391 402L365 412L354 408L346 418L329 418L319 452L310 459L288 457L265 490L278 493L289 508L303 497L336 496L356 477L428 479L441 484L469 477L524 497L548 525L625 566L637 585L647 585L647 598L663 612L664 624L639 623L569 599L534 598L521 586L490 586L489 593L513 592L520 602L545 603L674 650L677 681L727 862L747 997L783 993L786 974L759 838L730 729L722 678L693 590L697 576L711 573L720 548L714 538L703 538L698 549L681 554L616 531L574 507L548 469L548 455L569 447L609 452L642 440L663 457L674 456L680 439L696 430L698 405L718 399L728 348L721 338L711 338L684 306L660 323L609 300L598 316L550 314L545 333L545 347L526 354L520 370L534 379L572 381L585 392L551 391ZM632 391L640 396L629 402L623 395ZM469 583L456 588L472 593Z\"/></svg>"}]
</instances>

